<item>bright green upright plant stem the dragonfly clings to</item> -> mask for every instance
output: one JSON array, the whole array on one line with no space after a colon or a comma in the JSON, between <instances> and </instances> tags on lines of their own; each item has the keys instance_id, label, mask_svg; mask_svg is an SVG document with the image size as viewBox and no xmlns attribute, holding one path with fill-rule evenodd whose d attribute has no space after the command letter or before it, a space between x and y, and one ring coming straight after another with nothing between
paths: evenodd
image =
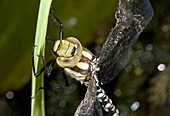
<instances>
[{"instance_id":1,"label":"bright green upright plant stem the dragonfly clings to","mask_svg":"<svg viewBox=\"0 0 170 116\"><path fill-rule=\"evenodd\" d=\"M46 32L48 24L48 14L50 10L52 0L41 0L39 6L36 34L35 34L35 50L34 50L34 61L35 70L40 69L43 64L40 57L37 55L45 55L45 43L46 43ZM39 77L35 77L32 73L32 97L35 96L37 90L44 86L44 76L41 74ZM45 102L44 102L44 91L41 90L38 95L31 100L31 116L45 116Z\"/></svg>"}]
</instances>

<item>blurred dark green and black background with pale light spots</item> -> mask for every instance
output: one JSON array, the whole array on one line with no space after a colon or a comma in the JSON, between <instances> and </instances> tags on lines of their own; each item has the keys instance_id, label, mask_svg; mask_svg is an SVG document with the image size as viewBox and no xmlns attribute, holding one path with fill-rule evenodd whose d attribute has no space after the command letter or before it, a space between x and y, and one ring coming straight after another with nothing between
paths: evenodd
<instances>
[{"instance_id":1,"label":"blurred dark green and black background with pale light spots","mask_svg":"<svg viewBox=\"0 0 170 116\"><path fill-rule=\"evenodd\" d=\"M170 1L150 1L154 17L131 50L126 68L103 86L122 116L170 115ZM64 24L64 35L75 36L98 55L115 23L116 0L55 0L55 15ZM31 52L39 1L0 1L0 116L30 116ZM49 20L48 35L58 38ZM47 43L46 60L53 57ZM64 85L54 67L45 86ZM73 115L86 87L68 78L64 90L45 91L48 116ZM67 112L66 112L67 111Z\"/></svg>"}]
</instances>

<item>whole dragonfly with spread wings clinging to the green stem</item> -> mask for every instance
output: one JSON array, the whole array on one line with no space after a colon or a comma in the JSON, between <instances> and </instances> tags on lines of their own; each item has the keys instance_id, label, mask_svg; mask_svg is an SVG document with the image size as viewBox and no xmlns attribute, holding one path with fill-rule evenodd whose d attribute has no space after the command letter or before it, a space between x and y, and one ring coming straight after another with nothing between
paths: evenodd
<instances>
[{"instance_id":1,"label":"whole dragonfly with spread wings clinging to the green stem","mask_svg":"<svg viewBox=\"0 0 170 116\"><path fill-rule=\"evenodd\" d=\"M85 98L78 106L75 116L102 115L103 109L112 116L118 116L112 100L105 94L100 84L106 84L127 64L128 51L137 41L153 16L153 10L148 0L119 0L116 12L116 26L111 30L99 57L83 48L75 37L63 39L63 26L59 19L53 15L50 17L60 28L60 39L54 41L52 52L56 58L45 63L38 72L35 71L34 52L32 54L32 68L34 75L38 77L43 71L50 75L55 62L66 75L85 84L88 89ZM36 45L33 47L35 49ZM33 49L33 51L34 51ZM39 56L41 57L41 56Z\"/></svg>"}]
</instances>

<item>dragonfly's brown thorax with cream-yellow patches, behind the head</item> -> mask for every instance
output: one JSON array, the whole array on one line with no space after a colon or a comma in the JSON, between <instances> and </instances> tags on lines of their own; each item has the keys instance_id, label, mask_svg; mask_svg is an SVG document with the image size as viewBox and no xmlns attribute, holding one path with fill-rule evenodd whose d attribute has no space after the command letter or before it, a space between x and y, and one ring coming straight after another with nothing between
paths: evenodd
<instances>
[{"instance_id":1,"label":"dragonfly's brown thorax with cream-yellow patches, behind the head","mask_svg":"<svg viewBox=\"0 0 170 116\"><path fill-rule=\"evenodd\" d=\"M81 84L87 85L91 78L92 71L96 68L96 64L93 63L95 56L87 49L83 49L80 61L76 66L71 68L64 68L65 72L76 80L80 81Z\"/></svg>"}]
</instances>

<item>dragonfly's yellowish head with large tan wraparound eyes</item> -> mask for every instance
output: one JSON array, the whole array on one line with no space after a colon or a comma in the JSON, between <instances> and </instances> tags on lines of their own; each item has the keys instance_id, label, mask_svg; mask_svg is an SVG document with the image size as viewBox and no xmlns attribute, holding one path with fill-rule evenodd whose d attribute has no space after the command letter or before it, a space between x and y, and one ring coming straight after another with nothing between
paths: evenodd
<instances>
[{"instance_id":1,"label":"dragonfly's yellowish head with large tan wraparound eyes","mask_svg":"<svg viewBox=\"0 0 170 116\"><path fill-rule=\"evenodd\" d=\"M74 67L82 56L82 45L74 37L65 40L57 40L53 46L53 53L57 56L56 62L62 67Z\"/></svg>"}]
</instances>

